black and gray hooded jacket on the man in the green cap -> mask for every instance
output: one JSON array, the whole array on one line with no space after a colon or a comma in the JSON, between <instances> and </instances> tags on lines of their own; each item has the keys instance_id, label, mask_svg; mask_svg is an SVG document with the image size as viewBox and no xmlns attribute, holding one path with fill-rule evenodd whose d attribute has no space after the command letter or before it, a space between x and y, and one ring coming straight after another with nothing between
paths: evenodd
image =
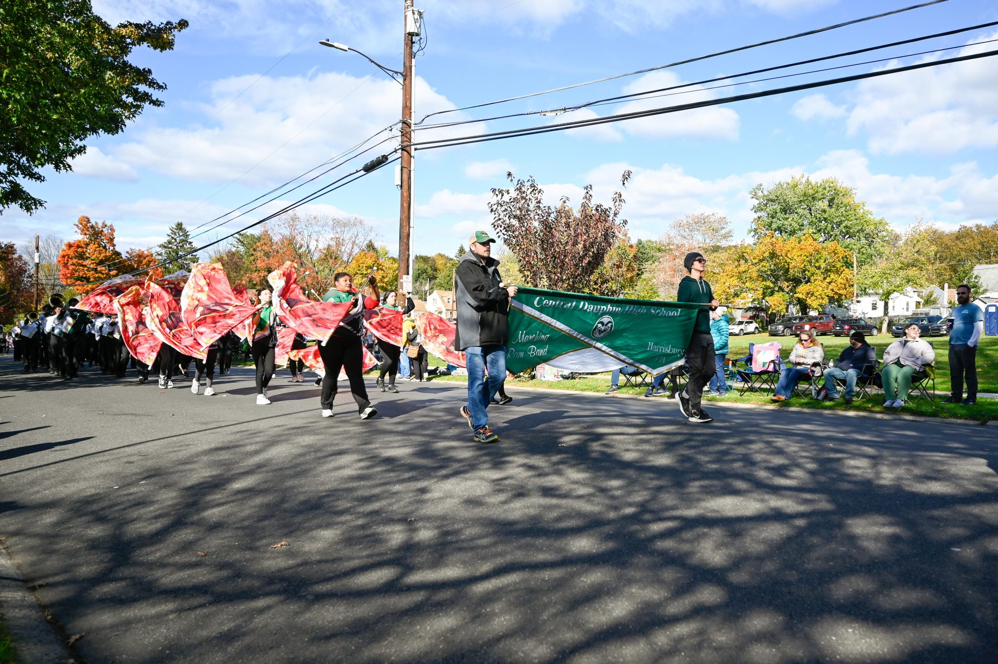
<instances>
[{"instance_id":1,"label":"black and gray hooded jacket on the man in the green cap","mask_svg":"<svg viewBox=\"0 0 998 664\"><path fill-rule=\"evenodd\" d=\"M457 334L454 346L465 350L474 346L505 346L509 317L509 292L502 287L499 261L485 263L470 251L457 265Z\"/></svg>"}]
</instances>

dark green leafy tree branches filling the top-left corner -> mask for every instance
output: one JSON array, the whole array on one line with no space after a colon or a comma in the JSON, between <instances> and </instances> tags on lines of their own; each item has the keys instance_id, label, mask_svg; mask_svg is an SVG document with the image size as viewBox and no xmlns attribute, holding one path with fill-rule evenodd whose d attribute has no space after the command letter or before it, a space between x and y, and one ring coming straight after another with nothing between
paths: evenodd
<instances>
[{"instance_id":1,"label":"dark green leafy tree branches filling the top-left corner","mask_svg":"<svg viewBox=\"0 0 998 664\"><path fill-rule=\"evenodd\" d=\"M166 86L129 62L140 46L170 51L187 21L122 23L94 13L90 0L16 0L0 9L0 209L45 204L23 180L72 169L98 134L118 134Z\"/></svg>"}]
</instances>

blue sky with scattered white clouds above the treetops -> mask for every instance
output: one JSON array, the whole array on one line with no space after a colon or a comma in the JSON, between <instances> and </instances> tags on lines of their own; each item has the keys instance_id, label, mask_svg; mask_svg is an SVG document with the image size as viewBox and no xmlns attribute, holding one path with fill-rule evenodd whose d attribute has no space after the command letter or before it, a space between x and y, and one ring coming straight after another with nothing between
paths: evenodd
<instances>
[{"instance_id":1,"label":"blue sky with scattered white clouds above the treetops","mask_svg":"<svg viewBox=\"0 0 998 664\"><path fill-rule=\"evenodd\" d=\"M654 67L908 4L914 0L422 0L416 6L425 11L428 41L416 62L415 115ZM47 172L48 181L31 188L48 201L46 209L31 217L6 210L0 215L4 239L20 243L36 232L69 239L76 217L87 214L114 223L120 247L150 246L171 223L202 224L399 118L396 83L356 54L318 41L346 43L400 69L401 0L96 0L94 7L111 22L191 22L173 52L135 54L135 62L151 67L169 86L162 95L166 106L147 110L118 136L89 141L74 172ZM995 20L998 5L991 0L949 0L748 52L441 118L556 109ZM831 64L995 38L998 29L990 28ZM814 78L698 89L595 112ZM420 132L417 140L591 113L476 123ZM582 187L592 183L597 200L608 203L621 172L634 170L625 191L633 238L658 237L675 217L700 211L726 214L742 237L751 217L749 189L801 172L838 177L898 229L918 218L944 227L990 223L998 218L996 146L998 61L981 59L570 133L427 151L416 158L413 246L418 253L452 253L475 228L489 228L489 189L504 185L508 169L533 175L552 200L565 194L578 201ZM364 217L392 251L397 210L390 168L302 208ZM255 214L198 239L236 230Z\"/></svg>"}]
</instances>

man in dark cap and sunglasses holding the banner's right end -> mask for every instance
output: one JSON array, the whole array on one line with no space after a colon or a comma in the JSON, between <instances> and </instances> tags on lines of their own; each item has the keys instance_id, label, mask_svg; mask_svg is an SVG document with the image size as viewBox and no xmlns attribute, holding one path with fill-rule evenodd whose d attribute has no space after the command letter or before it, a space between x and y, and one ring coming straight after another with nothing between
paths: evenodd
<instances>
[{"instance_id":1,"label":"man in dark cap and sunglasses holding the banner's right end","mask_svg":"<svg viewBox=\"0 0 998 664\"><path fill-rule=\"evenodd\" d=\"M691 251L683 260L683 265L690 272L689 276L680 281L678 302L696 302L710 305L710 311L718 308L719 302L714 298L711 284L704 279L707 269L707 259L699 251ZM702 307L697 313L697 321L693 326L693 336L687 347L687 365L690 367L690 379L685 390L676 393L676 401L680 410L690 422L714 422L714 418L701 408L704 397L704 386L717 372L714 359L714 337L711 335L711 314L707 307Z\"/></svg>"}]
</instances>

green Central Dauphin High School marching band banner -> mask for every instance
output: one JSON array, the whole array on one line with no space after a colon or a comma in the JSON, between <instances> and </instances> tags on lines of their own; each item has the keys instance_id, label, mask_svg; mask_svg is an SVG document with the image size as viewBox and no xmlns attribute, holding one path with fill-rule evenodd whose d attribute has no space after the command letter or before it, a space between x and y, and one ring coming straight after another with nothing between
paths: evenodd
<instances>
[{"instance_id":1,"label":"green Central Dauphin High School marching band banner","mask_svg":"<svg viewBox=\"0 0 998 664\"><path fill-rule=\"evenodd\" d=\"M521 287L510 302L506 368L595 373L628 364L664 374L683 364L701 306Z\"/></svg>"}]
</instances>

